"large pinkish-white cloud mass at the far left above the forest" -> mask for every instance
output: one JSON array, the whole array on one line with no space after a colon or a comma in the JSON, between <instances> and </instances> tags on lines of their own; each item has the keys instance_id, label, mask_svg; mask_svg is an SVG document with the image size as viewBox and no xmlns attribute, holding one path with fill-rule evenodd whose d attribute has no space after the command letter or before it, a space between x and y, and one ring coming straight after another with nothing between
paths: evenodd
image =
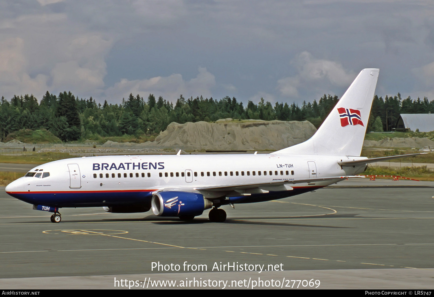
<instances>
[{"instance_id":1,"label":"large pinkish-white cloud mass at the far left above the forest","mask_svg":"<svg viewBox=\"0 0 434 297\"><path fill-rule=\"evenodd\" d=\"M111 38L82 32L63 13L17 16L0 26L9 28L0 33L0 96L33 93L41 99L47 90L101 94ZM16 37L8 38L8 31Z\"/></svg>"}]
</instances>

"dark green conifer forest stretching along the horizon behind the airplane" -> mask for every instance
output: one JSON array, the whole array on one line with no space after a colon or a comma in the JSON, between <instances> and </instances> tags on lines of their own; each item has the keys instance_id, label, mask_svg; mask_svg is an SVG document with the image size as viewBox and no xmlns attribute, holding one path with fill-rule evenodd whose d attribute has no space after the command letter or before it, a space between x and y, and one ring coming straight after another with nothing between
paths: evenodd
<instances>
[{"instance_id":1,"label":"dark green conifer forest stretching along the horizon behind the airplane","mask_svg":"<svg viewBox=\"0 0 434 297\"><path fill-rule=\"evenodd\" d=\"M338 102L338 96L325 95L313 102L276 102L274 106L260 99L247 106L235 97L220 100L182 95L176 103L149 94L144 99L130 94L118 104L97 103L92 97L77 98L72 92L58 96L48 91L39 100L33 95L3 96L0 102L0 141L10 133L22 129L46 129L64 142L96 139L99 136L153 135L166 129L171 122L214 122L217 119L261 119L281 121L309 121L318 128ZM401 113L434 113L434 100L413 100L409 97L374 96L367 131L391 131Z\"/></svg>"}]
</instances>

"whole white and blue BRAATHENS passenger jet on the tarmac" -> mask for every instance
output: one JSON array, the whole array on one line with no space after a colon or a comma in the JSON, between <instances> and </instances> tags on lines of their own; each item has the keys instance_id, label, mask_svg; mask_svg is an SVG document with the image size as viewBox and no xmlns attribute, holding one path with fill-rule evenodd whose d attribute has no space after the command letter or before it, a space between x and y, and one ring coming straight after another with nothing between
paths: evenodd
<instances>
[{"instance_id":1,"label":"whole white and blue BRAATHENS passenger jet on the tarmac","mask_svg":"<svg viewBox=\"0 0 434 297\"><path fill-rule=\"evenodd\" d=\"M33 209L103 207L112 213L146 212L190 221L223 205L270 201L360 178L368 163L418 154L361 157L379 69L363 69L307 141L270 154L135 155L69 158L31 169L7 185L7 194Z\"/></svg>"}]
</instances>

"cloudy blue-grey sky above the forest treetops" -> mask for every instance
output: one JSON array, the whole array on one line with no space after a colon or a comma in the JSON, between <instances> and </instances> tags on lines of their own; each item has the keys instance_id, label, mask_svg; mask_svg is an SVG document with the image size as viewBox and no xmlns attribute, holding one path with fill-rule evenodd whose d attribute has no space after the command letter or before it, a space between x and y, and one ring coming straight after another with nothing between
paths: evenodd
<instances>
[{"instance_id":1,"label":"cloudy blue-grey sky above the forest treetops","mask_svg":"<svg viewBox=\"0 0 434 297\"><path fill-rule=\"evenodd\" d=\"M1 0L0 96L434 100L432 0Z\"/></svg>"}]
</instances>

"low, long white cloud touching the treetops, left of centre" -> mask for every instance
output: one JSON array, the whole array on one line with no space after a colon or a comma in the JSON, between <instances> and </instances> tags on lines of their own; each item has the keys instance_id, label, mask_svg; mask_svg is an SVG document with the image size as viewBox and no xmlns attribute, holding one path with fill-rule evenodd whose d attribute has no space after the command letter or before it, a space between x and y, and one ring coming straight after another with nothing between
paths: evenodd
<instances>
[{"instance_id":1,"label":"low, long white cloud touching the treetops, left of centre","mask_svg":"<svg viewBox=\"0 0 434 297\"><path fill-rule=\"evenodd\" d=\"M181 74L174 73L170 76L152 77L151 79L128 80L121 79L114 86L105 91L105 99L108 102L117 103L121 98L127 98L130 93L140 94L144 98L148 94L163 96L164 99L174 102L180 94L184 98L190 96L211 96L211 89L216 85L215 76L206 68L199 67L195 78L185 80Z\"/></svg>"}]
</instances>

